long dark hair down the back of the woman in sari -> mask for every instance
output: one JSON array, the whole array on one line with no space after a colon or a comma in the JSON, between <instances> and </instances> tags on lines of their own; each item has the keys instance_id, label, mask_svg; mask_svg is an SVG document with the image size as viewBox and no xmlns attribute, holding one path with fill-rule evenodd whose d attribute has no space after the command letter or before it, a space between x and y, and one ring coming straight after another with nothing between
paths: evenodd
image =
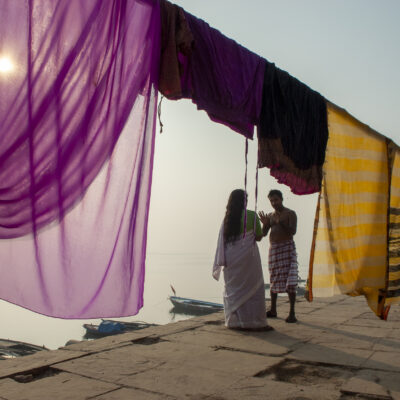
<instances>
[{"instance_id":1,"label":"long dark hair down the back of the woman in sari","mask_svg":"<svg viewBox=\"0 0 400 400\"><path fill-rule=\"evenodd\" d=\"M240 235L240 221L245 208L246 193L242 189L234 190L229 196L224 218L224 241L233 242Z\"/></svg>"}]
</instances>

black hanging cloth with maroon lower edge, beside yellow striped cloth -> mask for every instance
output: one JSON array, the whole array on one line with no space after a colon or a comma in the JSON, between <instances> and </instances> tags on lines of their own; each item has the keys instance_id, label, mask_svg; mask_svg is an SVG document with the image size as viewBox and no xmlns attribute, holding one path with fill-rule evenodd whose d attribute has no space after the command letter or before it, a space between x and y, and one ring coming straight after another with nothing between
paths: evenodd
<instances>
[{"instance_id":1,"label":"black hanging cloth with maroon lower edge, beside yellow striped cloth","mask_svg":"<svg viewBox=\"0 0 400 400\"><path fill-rule=\"evenodd\" d=\"M258 125L258 163L295 194L319 192L328 140L326 101L266 62Z\"/></svg>"}]
</instances>

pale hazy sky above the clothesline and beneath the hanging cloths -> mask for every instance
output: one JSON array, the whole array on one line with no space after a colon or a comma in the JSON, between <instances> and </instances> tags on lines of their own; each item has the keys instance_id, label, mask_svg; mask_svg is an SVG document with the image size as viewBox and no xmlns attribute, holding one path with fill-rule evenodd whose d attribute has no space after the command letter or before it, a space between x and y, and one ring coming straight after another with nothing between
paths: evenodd
<instances>
[{"instance_id":1,"label":"pale hazy sky above the clothesline and beneath the hanging cloths","mask_svg":"<svg viewBox=\"0 0 400 400\"><path fill-rule=\"evenodd\" d=\"M400 143L400 1L175 3ZM211 122L187 100L164 100L162 122L164 132L156 138L148 251L213 255L229 193L243 187L245 140ZM254 208L256 151L255 139L250 145L249 208ZM286 206L298 214L296 242L305 260L316 195L293 195L263 168L258 209L270 210L266 194L271 188L281 189Z\"/></svg>"}]
</instances>

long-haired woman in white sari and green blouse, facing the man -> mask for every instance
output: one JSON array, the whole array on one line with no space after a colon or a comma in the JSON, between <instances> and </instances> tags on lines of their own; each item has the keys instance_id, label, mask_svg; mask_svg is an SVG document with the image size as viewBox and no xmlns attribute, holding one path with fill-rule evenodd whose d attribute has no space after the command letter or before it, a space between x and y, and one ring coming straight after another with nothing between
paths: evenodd
<instances>
[{"instance_id":1,"label":"long-haired woman in white sari and green blouse, facing the man","mask_svg":"<svg viewBox=\"0 0 400 400\"><path fill-rule=\"evenodd\" d=\"M229 196L213 277L219 280L223 268L225 325L231 329L266 331L272 327L267 324L264 277L256 243L263 234L257 214L244 212L246 196L241 189Z\"/></svg>"}]
</instances>

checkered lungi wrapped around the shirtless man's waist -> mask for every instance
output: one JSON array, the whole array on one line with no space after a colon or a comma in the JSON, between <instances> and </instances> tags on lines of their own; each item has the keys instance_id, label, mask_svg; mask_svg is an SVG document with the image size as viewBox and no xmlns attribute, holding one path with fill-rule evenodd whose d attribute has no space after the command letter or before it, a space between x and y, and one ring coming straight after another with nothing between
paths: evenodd
<instances>
[{"instance_id":1,"label":"checkered lungi wrapped around the shirtless man's waist","mask_svg":"<svg viewBox=\"0 0 400 400\"><path fill-rule=\"evenodd\" d=\"M271 292L296 293L298 264L293 240L270 244L268 268Z\"/></svg>"}]
</instances>

